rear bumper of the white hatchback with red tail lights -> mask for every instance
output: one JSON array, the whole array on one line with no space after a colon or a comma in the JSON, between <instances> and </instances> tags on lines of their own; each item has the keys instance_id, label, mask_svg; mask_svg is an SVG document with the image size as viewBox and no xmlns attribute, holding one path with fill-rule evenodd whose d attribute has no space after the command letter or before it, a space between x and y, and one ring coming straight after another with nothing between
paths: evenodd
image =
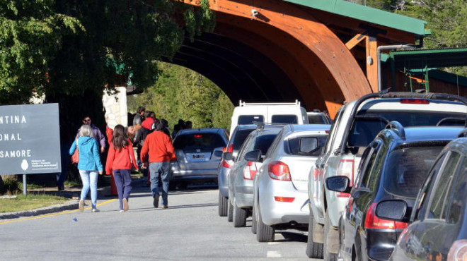
<instances>
[{"instance_id":1,"label":"rear bumper of the white hatchback with red tail lights","mask_svg":"<svg viewBox=\"0 0 467 261\"><path fill-rule=\"evenodd\" d=\"M280 181L283 182L283 181ZM279 202L275 197L294 198L293 202ZM309 197L305 190L271 192L264 190L260 195L260 210L263 222L268 226L276 224L309 223Z\"/></svg>"}]
</instances>

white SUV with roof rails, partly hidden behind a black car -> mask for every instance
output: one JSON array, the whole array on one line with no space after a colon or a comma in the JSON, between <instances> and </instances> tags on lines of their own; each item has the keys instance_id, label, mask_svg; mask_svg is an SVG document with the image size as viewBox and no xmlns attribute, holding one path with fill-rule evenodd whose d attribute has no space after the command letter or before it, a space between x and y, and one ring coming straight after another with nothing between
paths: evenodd
<instances>
[{"instance_id":1,"label":"white SUV with roof rails, partly hidden behind a black car","mask_svg":"<svg viewBox=\"0 0 467 261\"><path fill-rule=\"evenodd\" d=\"M372 93L344 104L331 127L325 152L310 173L310 245L320 248L323 243L325 260L337 257L338 221L350 194L325 189L325 178L347 176L353 186L363 151L389 121L398 121L405 127L463 124L466 104L466 98L456 95L413 92Z\"/></svg>"}]
</instances>

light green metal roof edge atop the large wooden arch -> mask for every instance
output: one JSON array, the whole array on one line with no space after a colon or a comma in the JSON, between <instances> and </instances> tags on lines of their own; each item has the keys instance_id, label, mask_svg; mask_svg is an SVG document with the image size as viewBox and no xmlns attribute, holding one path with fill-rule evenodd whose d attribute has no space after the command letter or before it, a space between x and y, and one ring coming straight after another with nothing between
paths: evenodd
<instances>
[{"instance_id":1,"label":"light green metal roof edge atop the large wooden arch","mask_svg":"<svg viewBox=\"0 0 467 261\"><path fill-rule=\"evenodd\" d=\"M425 30L427 24L424 20L401 16L396 13L382 11L368 6L354 4L344 0L284 0L290 3L308 6L318 10L335 13L357 20L363 20L376 25L383 25L415 35L429 35L430 30Z\"/></svg>"}]
</instances>

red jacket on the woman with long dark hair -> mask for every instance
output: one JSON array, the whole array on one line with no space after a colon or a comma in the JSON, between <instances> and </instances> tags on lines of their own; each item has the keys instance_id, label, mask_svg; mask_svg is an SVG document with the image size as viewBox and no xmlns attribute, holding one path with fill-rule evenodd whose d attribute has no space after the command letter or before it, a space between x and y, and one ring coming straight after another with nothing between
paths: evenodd
<instances>
[{"instance_id":1,"label":"red jacket on the woman with long dark hair","mask_svg":"<svg viewBox=\"0 0 467 261\"><path fill-rule=\"evenodd\" d=\"M132 143L127 140L127 146L122 147L122 150L118 152L113 147L113 142L110 142L105 172L110 175L113 169L132 169L132 165L134 169L138 169L136 159L134 159Z\"/></svg>"}]
</instances>

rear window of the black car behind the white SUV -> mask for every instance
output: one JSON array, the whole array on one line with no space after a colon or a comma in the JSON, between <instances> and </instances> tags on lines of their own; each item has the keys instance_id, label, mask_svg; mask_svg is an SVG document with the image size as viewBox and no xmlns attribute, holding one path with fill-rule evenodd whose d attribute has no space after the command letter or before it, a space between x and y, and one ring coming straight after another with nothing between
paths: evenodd
<instances>
[{"instance_id":1,"label":"rear window of the black car behind the white SUV","mask_svg":"<svg viewBox=\"0 0 467 261\"><path fill-rule=\"evenodd\" d=\"M443 146L407 147L389 154L384 174L388 193L416 198Z\"/></svg>"}]
</instances>

